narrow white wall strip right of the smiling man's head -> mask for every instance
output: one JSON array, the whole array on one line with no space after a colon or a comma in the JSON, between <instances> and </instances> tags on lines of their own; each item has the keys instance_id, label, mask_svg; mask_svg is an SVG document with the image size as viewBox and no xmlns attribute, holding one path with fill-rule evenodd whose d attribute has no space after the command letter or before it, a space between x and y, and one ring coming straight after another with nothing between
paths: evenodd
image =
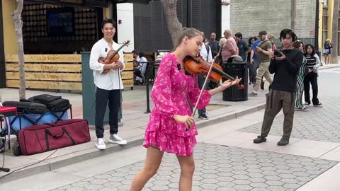
<instances>
[{"instance_id":1,"label":"narrow white wall strip right of the smiling man's head","mask_svg":"<svg viewBox=\"0 0 340 191\"><path fill-rule=\"evenodd\" d=\"M119 24L118 21L122 23ZM124 52L132 52L135 49L134 28L133 28L133 4L117 4L117 28L118 28L118 44L130 40L128 47L123 47Z\"/></svg>"}]
</instances>

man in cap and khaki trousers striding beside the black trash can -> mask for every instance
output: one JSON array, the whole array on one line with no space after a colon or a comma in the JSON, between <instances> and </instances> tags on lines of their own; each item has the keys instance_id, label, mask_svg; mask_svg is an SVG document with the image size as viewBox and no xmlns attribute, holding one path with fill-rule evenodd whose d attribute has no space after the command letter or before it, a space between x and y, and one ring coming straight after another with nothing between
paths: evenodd
<instances>
[{"instance_id":1,"label":"man in cap and khaki trousers striding beside the black trash can","mask_svg":"<svg viewBox=\"0 0 340 191\"><path fill-rule=\"evenodd\" d=\"M255 48L257 54L257 59L260 62L259 71L256 74L256 83L254 86L254 91L249 93L249 96L257 96L257 91L259 91L261 85L261 78L264 76L266 80L271 84L273 79L271 79L271 74L269 74L268 67L271 62L269 55L272 52L273 45L267 38L267 32L262 30L259 33L259 40L261 41L259 46Z\"/></svg>"}]
</instances>

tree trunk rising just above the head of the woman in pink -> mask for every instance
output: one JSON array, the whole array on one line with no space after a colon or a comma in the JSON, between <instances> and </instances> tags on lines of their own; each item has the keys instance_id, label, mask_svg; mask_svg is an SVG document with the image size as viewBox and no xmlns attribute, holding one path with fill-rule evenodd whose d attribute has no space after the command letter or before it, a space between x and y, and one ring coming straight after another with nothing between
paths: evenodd
<instances>
[{"instance_id":1,"label":"tree trunk rising just above the head of the woman in pink","mask_svg":"<svg viewBox=\"0 0 340 191\"><path fill-rule=\"evenodd\" d=\"M177 17L177 0L161 0L164 8L166 23L171 35L172 45L176 46L176 40L181 35L182 24Z\"/></svg>"}]
</instances>

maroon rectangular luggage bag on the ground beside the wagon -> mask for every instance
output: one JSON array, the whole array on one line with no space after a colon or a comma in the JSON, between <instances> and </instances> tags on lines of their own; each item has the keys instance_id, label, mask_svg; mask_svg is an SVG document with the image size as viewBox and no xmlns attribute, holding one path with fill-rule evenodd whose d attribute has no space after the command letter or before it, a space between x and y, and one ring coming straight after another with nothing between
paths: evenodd
<instances>
[{"instance_id":1,"label":"maroon rectangular luggage bag on the ground beside the wagon","mask_svg":"<svg viewBox=\"0 0 340 191\"><path fill-rule=\"evenodd\" d=\"M19 148L23 155L38 154L90 140L89 123L83 119L33 125L18 133Z\"/></svg>"}]
</instances>

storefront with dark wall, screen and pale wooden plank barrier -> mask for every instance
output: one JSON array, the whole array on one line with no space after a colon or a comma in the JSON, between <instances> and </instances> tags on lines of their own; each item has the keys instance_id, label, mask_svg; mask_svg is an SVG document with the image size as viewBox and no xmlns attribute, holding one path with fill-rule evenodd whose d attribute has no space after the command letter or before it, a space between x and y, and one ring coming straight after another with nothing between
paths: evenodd
<instances>
[{"instance_id":1,"label":"storefront with dark wall, screen and pale wooden plank barrier","mask_svg":"<svg viewBox=\"0 0 340 191\"><path fill-rule=\"evenodd\" d=\"M23 47L26 88L81 91L81 51L103 36L100 23L111 17L106 0L24 1ZM1 2L0 88L18 88L17 40L11 12L16 1ZM99 23L99 24L98 24ZM0 23L1 24L1 23Z\"/></svg>"}]
</instances>

